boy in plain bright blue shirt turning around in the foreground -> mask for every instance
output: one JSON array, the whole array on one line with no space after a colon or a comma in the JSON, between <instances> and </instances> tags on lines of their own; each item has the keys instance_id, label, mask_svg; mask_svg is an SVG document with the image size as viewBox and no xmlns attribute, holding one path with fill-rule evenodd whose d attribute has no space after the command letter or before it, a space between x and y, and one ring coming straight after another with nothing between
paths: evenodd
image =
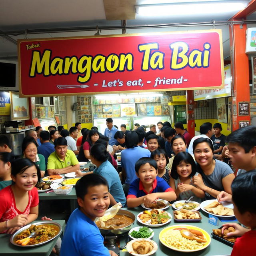
<instances>
[{"instance_id":1,"label":"boy in plain bright blue shirt turning around in the foreground","mask_svg":"<svg viewBox=\"0 0 256 256\"><path fill-rule=\"evenodd\" d=\"M117 256L104 246L104 239L94 223L110 204L107 181L98 174L88 174L76 183L76 196L79 206L68 219L60 255Z\"/></svg>"}]
</instances>

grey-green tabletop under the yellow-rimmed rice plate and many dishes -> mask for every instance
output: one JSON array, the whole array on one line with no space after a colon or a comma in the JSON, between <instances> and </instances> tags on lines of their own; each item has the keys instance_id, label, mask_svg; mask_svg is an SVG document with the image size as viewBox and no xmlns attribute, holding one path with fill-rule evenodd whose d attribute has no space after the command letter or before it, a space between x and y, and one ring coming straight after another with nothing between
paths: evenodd
<instances>
[{"instance_id":1,"label":"grey-green tabletop under the yellow-rimmed rice plate and many dishes","mask_svg":"<svg viewBox=\"0 0 256 256\"><path fill-rule=\"evenodd\" d=\"M135 217L137 217L137 215L140 212L143 212L144 208L142 208L142 206L136 207L136 208L122 208L124 210L128 210L129 212L132 212ZM200 214L202 216L202 220L200 222L174 222L173 219L173 211L175 209L172 209L172 206L169 206L169 208L165 209L165 211L169 212L172 215L172 220L163 225L163 226L159 226L159 227L152 227L150 226L150 228L152 228L152 230L154 231L154 236L153 238L151 238L154 242L156 242L156 244L158 245L158 249L157 251L153 254L154 256L164 256L164 255L173 255L173 256L229 256L231 254L232 251L232 247L224 244L223 242L220 242L219 240L216 240L214 238L212 238L212 229L216 229L216 228L220 228L220 226L222 226L222 224L224 223L231 223L231 222L236 222L237 220L235 218L225 218L228 219L228 222L222 222L220 219L218 220L218 226L215 226L213 224L210 224L208 222L209 220L209 216L206 212L200 210ZM224 218L223 218L224 219ZM206 248L204 248L203 250L200 251L196 251L196 252L178 252L176 250L172 250L166 246L164 246L160 240L159 240L159 233L161 230L163 230L164 228L168 227L168 226L173 226L173 225L180 225L182 226L182 224L184 225L192 225L192 226L196 226L199 228L202 228L203 230L205 230L208 234L210 234L211 237L211 242L210 245ZM146 226L141 224L140 222L138 222L138 220L135 219L134 224L132 225L133 227L136 226ZM120 237L120 247L125 246L127 242L127 236L122 236ZM128 256L130 255L126 250L120 250L120 256Z\"/></svg>"}]
</instances>

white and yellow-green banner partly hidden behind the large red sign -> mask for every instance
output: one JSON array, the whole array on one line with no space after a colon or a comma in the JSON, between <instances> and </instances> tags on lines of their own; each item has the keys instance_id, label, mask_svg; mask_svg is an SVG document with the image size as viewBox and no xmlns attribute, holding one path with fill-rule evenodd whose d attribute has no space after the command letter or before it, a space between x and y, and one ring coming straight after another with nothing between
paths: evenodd
<instances>
[{"instance_id":1,"label":"white and yellow-green banner partly hidden behind the large red sign","mask_svg":"<svg viewBox=\"0 0 256 256\"><path fill-rule=\"evenodd\" d=\"M208 100L231 96L231 65L224 66L224 88L194 90L194 100Z\"/></svg>"}]
</instances>

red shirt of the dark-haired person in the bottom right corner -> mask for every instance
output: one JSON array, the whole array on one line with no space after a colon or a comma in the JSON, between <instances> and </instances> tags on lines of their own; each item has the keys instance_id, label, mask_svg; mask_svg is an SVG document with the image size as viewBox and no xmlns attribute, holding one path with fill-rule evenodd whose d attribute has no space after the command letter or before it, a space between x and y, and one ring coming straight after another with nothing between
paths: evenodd
<instances>
[{"instance_id":1,"label":"red shirt of the dark-haired person in the bottom right corner","mask_svg":"<svg viewBox=\"0 0 256 256\"><path fill-rule=\"evenodd\" d=\"M256 230L250 230L243 236L236 238L231 256L255 255Z\"/></svg>"}]
</instances>

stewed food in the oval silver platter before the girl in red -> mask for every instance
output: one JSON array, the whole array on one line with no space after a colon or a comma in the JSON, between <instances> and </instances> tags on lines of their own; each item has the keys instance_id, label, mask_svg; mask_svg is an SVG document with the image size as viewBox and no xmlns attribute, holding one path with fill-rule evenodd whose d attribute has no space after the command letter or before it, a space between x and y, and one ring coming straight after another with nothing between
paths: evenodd
<instances>
[{"instance_id":1,"label":"stewed food in the oval silver platter before the girl in red","mask_svg":"<svg viewBox=\"0 0 256 256\"><path fill-rule=\"evenodd\" d=\"M28 238L32 232L36 231L37 235L35 237ZM58 226L53 224L43 224L43 225L31 225L26 230L23 230L14 238L14 242L21 244L22 246L40 244L50 238L56 236L59 232Z\"/></svg>"}]
</instances>

